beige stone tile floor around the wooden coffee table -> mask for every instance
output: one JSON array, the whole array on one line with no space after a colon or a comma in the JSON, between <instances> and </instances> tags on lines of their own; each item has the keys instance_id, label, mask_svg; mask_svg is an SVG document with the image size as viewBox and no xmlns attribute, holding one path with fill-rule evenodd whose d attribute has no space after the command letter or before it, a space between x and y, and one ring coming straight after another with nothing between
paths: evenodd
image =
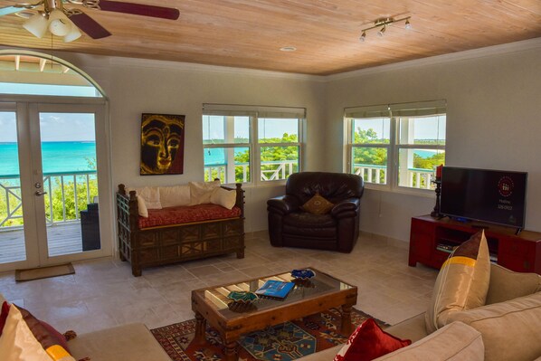
<instances>
[{"instance_id":1,"label":"beige stone tile floor around the wooden coffee table","mask_svg":"<svg viewBox=\"0 0 541 361\"><path fill-rule=\"evenodd\" d=\"M266 233L246 236L246 256L234 254L143 270L133 277L127 262L74 263L75 274L16 283L0 273L0 293L62 332L78 333L143 322L147 328L194 318L190 291L214 284L312 266L355 284L357 309L390 324L422 313L437 271L408 267L404 248L362 236L344 254L273 248Z\"/></svg>"}]
</instances>

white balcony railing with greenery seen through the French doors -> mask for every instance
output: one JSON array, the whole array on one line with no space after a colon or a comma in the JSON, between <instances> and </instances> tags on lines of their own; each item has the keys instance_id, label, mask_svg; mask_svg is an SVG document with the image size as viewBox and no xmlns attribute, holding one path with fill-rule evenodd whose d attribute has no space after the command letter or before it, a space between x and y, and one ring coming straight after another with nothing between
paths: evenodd
<instances>
[{"instance_id":1,"label":"white balcony railing with greenery seen through the French doors","mask_svg":"<svg viewBox=\"0 0 541 361\"><path fill-rule=\"evenodd\" d=\"M94 182L97 182L95 170L44 173L43 190L47 192L43 195L46 222L51 225L78 221L80 211L86 209L92 199L90 184ZM62 212L58 211L59 204L62 206ZM1 212L4 209L5 212ZM0 176L0 231L22 228L22 210L19 175Z\"/></svg>"}]
</instances>

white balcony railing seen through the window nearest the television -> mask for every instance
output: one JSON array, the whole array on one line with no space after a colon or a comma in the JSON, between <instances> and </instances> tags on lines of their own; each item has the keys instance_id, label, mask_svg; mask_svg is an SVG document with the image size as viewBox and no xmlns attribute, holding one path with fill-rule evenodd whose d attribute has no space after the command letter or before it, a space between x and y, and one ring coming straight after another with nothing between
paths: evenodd
<instances>
[{"instance_id":1,"label":"white balcony railing seen through the window nearest the television","mask_svg":"<svg viewBox=\"0 0 541 361\"><path fill-rule=\"evenodd\" d=\"M355 164L354 173L362 176L366 183L384 185L387 183L387 167L365 164ZM409 186L419 189L433 189L432 179L435 177L433 169L408 168L405 175L405 182L400 182L402 186Z\"/></svg>"}]
</instances>

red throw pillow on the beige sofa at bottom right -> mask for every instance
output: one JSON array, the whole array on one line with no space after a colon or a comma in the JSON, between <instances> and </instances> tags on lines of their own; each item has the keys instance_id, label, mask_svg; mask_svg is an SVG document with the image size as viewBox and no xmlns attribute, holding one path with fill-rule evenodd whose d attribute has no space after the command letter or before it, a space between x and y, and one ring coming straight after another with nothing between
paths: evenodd
<instances>
[{"instance_id":1,"label":"red throw pillow on the beige sofa at bottom right","mask_svg":"<svg viewBox=\"0 0 541 361\"><path fill-rule=\"evenodd\" d=\"M386 333L373 318L368 318L347 339L334 361L370 361L411 344L409 339Z\"/></svg>"}]
</instances>

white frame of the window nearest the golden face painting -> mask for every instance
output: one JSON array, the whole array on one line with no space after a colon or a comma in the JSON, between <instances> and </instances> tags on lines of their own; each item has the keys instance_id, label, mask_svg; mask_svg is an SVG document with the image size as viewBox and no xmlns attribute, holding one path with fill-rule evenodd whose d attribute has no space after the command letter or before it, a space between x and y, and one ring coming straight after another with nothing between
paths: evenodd
<instances>
[{"instance_id":1,"label":"white frame of the window nearest the golden face painting","mask_svg":"<svg viewBox=\"0 0 541 361\"><path fill-rule=\"evenodd\" d=\"M285 184L286 178L261 180L261 147L299 147L298 172L302 171L304 155L304 123L306 121L306 109L304 108L285 108L285 107L261 107L227 104L204 104L203 115L214 115L222 117L248 117L250 141L248 143L223 143L223 144L203 144L204 151L208 148L234 148L247 147L250 152L249 168L250 181L242 182L243 185L276 185ZM259 142L259 119L298 119L298 141L291 143L260 143ZM204 172L207 170L204 168ZM212 171L212 170L211 170ZM234 172L234 170L228 170ZM289 174L287 175L289 176ZM228 176L229 178L229 176ZM234 173L233 173L234 178ZM234 182L228 182L233 184Z\"/></svg>"}]
</instances>

